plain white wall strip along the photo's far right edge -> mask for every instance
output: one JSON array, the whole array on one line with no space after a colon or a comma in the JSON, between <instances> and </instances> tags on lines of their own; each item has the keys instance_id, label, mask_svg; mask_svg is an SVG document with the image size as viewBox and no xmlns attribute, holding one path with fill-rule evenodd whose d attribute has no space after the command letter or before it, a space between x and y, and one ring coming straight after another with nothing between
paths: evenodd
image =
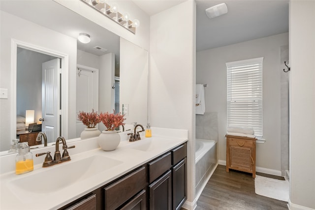
<instances>
[{"instance_id":1,"label":"plain white wall strip along the photo's far right edge","mask_svg":"<svg viewBox=\"0 0 315 210\"><path fill-rule=\"evenodd\" d=\"M291 0L290 200L291 210L315 209L315 1Z\"/></svg>"}]
</instances>

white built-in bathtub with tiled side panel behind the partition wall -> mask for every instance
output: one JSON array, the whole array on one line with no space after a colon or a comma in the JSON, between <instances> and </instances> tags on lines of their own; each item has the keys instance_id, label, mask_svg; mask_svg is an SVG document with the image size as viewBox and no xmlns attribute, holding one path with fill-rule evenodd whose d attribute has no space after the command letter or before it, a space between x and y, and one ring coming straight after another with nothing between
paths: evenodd
<instances>
[{"instance_id":1,"label":"white built-in bathtub with tiled side panel behind the partition wall","mask_svg":"<svg viewBox=\"0 0 315 210\"><path fill-rule=\"evenodd\" d=\"M212 140L196 139L195 156L195 199L198 199L203 188L218 166L217 142Z\"/></svg>"}]
</instances>

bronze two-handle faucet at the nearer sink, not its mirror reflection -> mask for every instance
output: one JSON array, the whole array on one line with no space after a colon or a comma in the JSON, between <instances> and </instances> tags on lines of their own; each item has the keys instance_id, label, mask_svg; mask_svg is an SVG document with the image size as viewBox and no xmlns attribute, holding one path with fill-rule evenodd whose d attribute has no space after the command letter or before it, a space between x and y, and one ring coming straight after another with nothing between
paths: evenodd
<instances>
[{"instance_id":1,"label":"bronze two-handle faucet at the nearer sink, not its mirror reflection","mask_svg":"<svg viewBox=\"0 0 315 210\"><path fill-rule=\"evenodd\" d=\"M60 155L60 151L59 151L60 140L63 143L63 156ZM68 147L65 142L65 139L62 136L59 136L56 140L56 151L55 151L54 159L51 157L50 152L38 153L35 156L39 157L42 155L46 155L44 163L43 163L43 167L49 167L52 165L56 165L56 164L71 160L69 153L67 151L67 149L71 149L71 148L75 148L75 146L73 145L71 147Z\"/></svg>"}]
</instances>

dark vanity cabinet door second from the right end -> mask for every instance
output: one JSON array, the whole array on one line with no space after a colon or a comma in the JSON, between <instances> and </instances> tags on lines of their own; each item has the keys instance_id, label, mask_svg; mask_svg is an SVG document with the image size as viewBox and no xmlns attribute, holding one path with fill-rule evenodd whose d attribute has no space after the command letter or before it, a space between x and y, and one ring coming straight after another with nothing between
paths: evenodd
<instances>
[{"instance_id":1,"label":"dark vanity cabinet door second from the right end","mask_svg":"<svg viewBox=\"0 0 315 210\"><path fill-rule=\"evenodd\" d=\"M171 171L149 185L150 210L172 209L172 177Z\"/></svg>"}]
</instances>

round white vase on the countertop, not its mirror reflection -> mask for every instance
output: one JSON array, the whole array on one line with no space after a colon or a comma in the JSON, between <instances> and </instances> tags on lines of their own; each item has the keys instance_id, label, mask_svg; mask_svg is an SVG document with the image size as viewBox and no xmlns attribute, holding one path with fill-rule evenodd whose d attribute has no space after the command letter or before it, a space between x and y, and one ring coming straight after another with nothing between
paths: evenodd
<instances>
[{"instance_id":1,"label":"round white vase on the countertop, not its mirror reflection","mask_svg":"<svg viewBox=\"0 0 315 210\"><path fill-rule=\"evenodd\" d=\"M102 133L98 136L97 141L102 150L112 151L118 147L120 143L120 135L116 130L102 131Z\"/></svg>"}]
</instances>

